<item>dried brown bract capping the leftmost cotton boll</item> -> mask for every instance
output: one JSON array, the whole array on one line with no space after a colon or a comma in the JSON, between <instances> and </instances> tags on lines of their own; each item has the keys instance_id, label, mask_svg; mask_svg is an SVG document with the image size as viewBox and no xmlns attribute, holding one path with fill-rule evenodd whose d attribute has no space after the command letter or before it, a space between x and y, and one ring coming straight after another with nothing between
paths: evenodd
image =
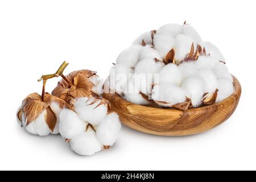
<instances>
[{"instance_id":1,"label":"dried brown bract capping the leftmost cotton boll","mask_svg":"<svg viewBox=\"0 0 256 182\"><path fill-rule=\"evenodd\" d=\"M42 101L42 97L38 93L28 95L23 100L22 107L18 111L17 117L19 121L22 122L22 114L24 114L26 126L28 126L31 122L35 121L35 119L38 118L44 110L46 110L46 115L44 115L44 117L49 129L53 131L55 129L57 118L51 109L51 102L57 102L57 104L63 108L65 106L65 101L58 97L52 96L49 93L44 94L43 100L44 101Z\"/></svg>"}]
</instances>

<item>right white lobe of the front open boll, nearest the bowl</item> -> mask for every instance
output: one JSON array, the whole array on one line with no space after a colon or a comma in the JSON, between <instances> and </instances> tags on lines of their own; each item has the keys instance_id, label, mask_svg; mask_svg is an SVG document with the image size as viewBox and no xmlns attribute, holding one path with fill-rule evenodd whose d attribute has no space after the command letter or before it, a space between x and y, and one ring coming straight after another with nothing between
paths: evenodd
<instances>
[{"instance_id":1,"label":"right white lobe of the front open boll, nearest the bowl","mask_svg":"<svg viewBox=\"0 0 256 182\"><path fill-rule=\"evenodd\" d=\"M97 127L97 138L104 146L112 146L117 140L121 123L116 113L108 114Z\"/></svg>"}]
</instances>

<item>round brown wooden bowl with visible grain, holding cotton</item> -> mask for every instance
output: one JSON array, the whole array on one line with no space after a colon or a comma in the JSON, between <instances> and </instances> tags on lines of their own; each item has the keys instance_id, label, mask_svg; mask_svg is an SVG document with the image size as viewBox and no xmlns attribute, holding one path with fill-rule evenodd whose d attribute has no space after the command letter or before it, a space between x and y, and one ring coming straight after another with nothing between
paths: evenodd
<instances>
[{"instance_id":1,"label":"round brown wooden bowl with visible grain, holding cotton","mask_svg":"<svg viewBox=\"0 0 256 182\"><path fill-rule=\"evenodd\" d=\"M241 85L236 77L233 79L232 96L217 104L185 111L136 105L118 94L104 94L104 98L110 101L121 122L132 129L164 136L193 135L220 125L234 113L241 96Z\"/></svg>"}]
</instances>

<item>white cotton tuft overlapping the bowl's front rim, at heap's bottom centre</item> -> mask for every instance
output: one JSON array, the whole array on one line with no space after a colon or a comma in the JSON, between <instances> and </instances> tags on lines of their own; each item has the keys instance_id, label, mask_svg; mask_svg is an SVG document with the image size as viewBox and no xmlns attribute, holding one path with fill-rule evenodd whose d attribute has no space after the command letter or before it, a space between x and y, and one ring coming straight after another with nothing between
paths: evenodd
<instances>
[{"instance_id":1,"label":"white cotton tuft overlapping the bowl's front rim, at heap's bottom centre","mask_svg":"<svg viewBox=\"0 0 256 182\"><path fill-rule=\"evenodd\" d=\"M163 104L160 102L158 102L158 104L168 107L184 102L186 100L184 90L177 85L170 84L155 85L154 89L152 90L152 98L156 102L167 102L167 104Z\"/></svg>"}]
</instances>

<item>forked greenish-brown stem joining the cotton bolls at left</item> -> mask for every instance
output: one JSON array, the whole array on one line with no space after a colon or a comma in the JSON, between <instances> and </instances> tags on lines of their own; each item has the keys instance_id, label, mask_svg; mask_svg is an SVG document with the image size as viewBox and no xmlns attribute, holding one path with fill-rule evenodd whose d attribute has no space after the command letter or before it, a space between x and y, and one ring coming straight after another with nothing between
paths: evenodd
<instances>
[{"instance_id":1,"label":"forked greenish-brown stem joining the cotton bolls at left","mask_svg":"<svg viewBox=\"0 0 256 182\"><path fill-rule=\"evenodd\" d=\"M46 81L48 79L54 78L54 77L63 77L63 79L65 78L66 80L68 80L64 75L63 72L65 70L65 68L68 66L68 62L64 61L63 64L60 65L60 68L56 71L56 73L51 74L51 75L43 75L38 81L42 81L43 80L43 89L42 89L42 101L44 101L44 94L45 94L45 90L46 90ZM64 79L64 80L65 80ZM65 80L65 81L66 81ZM70 82L68 81L68 84L70 84Z\"/></svg>"}]
</instances>

